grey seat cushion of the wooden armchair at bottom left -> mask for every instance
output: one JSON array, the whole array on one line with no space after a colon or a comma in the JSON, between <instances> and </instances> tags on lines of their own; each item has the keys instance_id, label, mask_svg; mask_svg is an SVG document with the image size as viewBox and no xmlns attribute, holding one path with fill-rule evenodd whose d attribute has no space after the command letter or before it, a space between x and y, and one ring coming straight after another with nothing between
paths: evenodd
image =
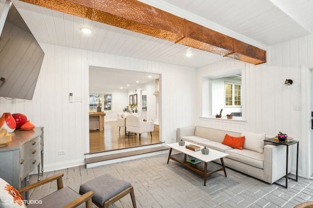
<instances>
[{"instance_id":1,"label":"grey seat cushion of the wooden armchair at bottom left","mask_svg":"<svg viewBox=\"0 0 313 208\"><path fill-rule=\"evenodd\" d=\"M77 197L80 197L78 193L69 187L65 187L45 196L41 200L35 201L41 203L28 204L27 208L62 208ZM81 204L78 208L86 208L86 203Z\"/></svg>"}]
</instances>

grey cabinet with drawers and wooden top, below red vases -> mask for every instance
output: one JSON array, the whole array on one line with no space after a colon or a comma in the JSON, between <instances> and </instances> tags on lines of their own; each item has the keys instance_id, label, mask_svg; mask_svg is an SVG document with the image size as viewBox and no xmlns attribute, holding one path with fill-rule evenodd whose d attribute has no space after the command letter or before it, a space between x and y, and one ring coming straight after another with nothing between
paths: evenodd
<instances>
[{"instance_id":1,"label":"grey cabinet with drawers and wooden top, below red vases","mask_svg":"<svg viewBox=\"0 0 313 208\"><path fill-rule=\"evenodd\" d=\"M20 189L29 184L29 173L36 167L38 180L44 172L44 127L36 127L30 131L15 130L12 141L0 147L0 177ZM41 166L41 169L40 169ZM25 194L26 200L28 193Z\"/></svg>"}]
</instances>

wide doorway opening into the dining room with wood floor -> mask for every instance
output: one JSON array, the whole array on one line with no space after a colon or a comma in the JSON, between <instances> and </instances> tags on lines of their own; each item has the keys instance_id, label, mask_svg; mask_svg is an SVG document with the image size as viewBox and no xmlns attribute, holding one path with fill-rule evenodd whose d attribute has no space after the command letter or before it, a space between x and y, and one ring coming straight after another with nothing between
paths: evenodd
<instances>
[{"instance_id":1,"label":"wide doorway opening into the dining room with wood floor","mask_svg":"<svg viewBox=\"0 0 313 208\"><path fill-rule=\"evenodd\" d=\"M121 150L162 143L159 132L130 135L125 127L117 125L117 114L125 113L129 106L130 96L137 97L137 111L135 114L145 120L156 121L155 80L158 74L129 70L112 69L89 66L89 94L110 94L111 109L102 108L105 113L103 130L90 129L89 126L89 153ZM90 112L89 112L90 113Z\"/></svg>"}]
</instances>

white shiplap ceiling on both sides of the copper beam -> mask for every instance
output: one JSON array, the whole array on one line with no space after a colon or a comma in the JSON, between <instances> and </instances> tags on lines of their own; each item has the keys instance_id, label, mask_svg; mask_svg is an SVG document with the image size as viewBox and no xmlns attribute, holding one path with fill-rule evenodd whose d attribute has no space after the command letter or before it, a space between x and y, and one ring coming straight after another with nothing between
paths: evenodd
<instances>
[{"instance_id":1,"label":"white shiplap ceiling on both sides of the copper beam","mask_svg":"<svg viewBox=\"0 0 313 208\"><path fill-rule=\"evenodd\" d=\"M5 0L0 0L2 11ZM12 0L38 42L198 68L227 57ZM313 0L141 0L264 50L313 31ZM89 26L90 35L80 28ZM192 57L185 57L190 51Z\"/></svg>"}]
</instances>

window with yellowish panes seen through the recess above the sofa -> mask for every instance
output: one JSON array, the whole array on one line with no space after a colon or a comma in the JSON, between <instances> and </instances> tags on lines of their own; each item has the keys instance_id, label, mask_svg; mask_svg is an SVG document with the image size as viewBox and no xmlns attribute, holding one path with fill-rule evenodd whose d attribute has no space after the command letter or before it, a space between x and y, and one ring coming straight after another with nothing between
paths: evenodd
<instances>
[{"instance_id":1,"label":"window with yellowish panes seen through the recess above the sofa","mask_svg":"<svg viewBox=\"0 0 313 208\"><path fill-rule=\"evenodd\" d=\"M225 83L225 106L241 106L241 85Z\"/></svg>"}]
</instances>

